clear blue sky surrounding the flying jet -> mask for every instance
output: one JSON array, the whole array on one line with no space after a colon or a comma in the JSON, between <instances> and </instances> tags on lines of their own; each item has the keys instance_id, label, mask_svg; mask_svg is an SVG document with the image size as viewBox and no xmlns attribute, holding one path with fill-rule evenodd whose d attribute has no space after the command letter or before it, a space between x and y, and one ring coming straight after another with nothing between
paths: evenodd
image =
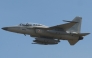
<instances>
[{"instance_id":1,"label":"clear blue sky surrounding the flying jet","mask_svg":"<svg viewBox=\"0 0 92 58\"><path fill-rule=\"evenodd\" d=\"M83 18L81 32L92 33L92 0L0 0L0 28L20 23L63 24ZM92 58L92 35L76 45L33 45L34 38L0 29L0 58Z\"/></svg>"}]
</instances>

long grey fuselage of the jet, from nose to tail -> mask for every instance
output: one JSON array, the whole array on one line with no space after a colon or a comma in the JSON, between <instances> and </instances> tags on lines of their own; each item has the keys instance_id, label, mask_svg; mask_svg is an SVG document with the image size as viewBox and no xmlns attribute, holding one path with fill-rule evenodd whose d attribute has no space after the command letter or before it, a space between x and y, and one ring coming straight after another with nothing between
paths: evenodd
<instances>
[{"instance_id":1,"label":"long grey fuselage of the jet, from nose to tail","mask_svg":"<svg viewBox=\"0 0 92 58\"><path fill-rule=\"evenodd\" d=\"M78 39L77 36L69 35L70 33L64 31L55 31L55 30L43 30L38 28L33 28L30 26L12 26L12 27L5 27L7 31L27 34L31 37L48 37L53 39L61 39L61 40L68 40L68 39Z\"/></svg>"}]
</instances>

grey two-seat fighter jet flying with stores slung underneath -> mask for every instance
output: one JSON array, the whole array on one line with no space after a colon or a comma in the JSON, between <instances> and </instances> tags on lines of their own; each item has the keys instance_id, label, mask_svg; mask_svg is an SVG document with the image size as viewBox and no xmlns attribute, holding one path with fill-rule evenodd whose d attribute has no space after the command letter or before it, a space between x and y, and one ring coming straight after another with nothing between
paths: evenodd
<instances>
[{"instance_id":1,"label":"grey two-seat fighter jet flying with stores slung underneath","mask_svg":"<svg viewBox=\"0 0 92 58\"><path fill-rule=\"evenodd\" d=\"M79 40L83 40L84 36L90 33L81 33L82 17L76 16L72 21L56 26L46 26L37 23L19 24L17 26L3 27L3 30L30 35L34 37L32 44L54 45L60 43L61 40L67 40L70 45L75 45Z\"/></svg>"}]
</instances>

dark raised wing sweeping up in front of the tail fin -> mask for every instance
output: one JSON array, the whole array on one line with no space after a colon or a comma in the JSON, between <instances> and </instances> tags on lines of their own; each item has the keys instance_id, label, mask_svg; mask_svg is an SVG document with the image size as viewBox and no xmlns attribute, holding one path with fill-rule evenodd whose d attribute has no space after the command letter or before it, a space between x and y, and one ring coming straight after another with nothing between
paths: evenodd
<instances>
[{"instance_id":1,"label":"dark raised wing sweeping up in front of the tail fin","mask_svg":"<svg viewBox=\"0 0 92 58\"><path fill-rule=\"evenodd\" d=\"M70 22L70 23L66 23L66 24L60 24L60 25L52 26L52 27L49 27L49 28L51 28L51 29L52 28L55 28L55 29L59 28L59 29L67 30L75 24L76 24L76 22Z\"/></svg>"}]
</instances>

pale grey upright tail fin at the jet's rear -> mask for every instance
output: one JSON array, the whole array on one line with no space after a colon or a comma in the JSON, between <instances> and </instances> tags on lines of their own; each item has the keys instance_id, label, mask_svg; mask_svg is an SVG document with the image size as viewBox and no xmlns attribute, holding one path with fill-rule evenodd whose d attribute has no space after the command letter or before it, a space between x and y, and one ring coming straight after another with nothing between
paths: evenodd
<instances>
[{"instance_id":1,"label":"pale grey upright tail fin at the jet's rear","mask_svg":"<svg viewBox=\"0 0 92 58\"><path fill-rule=\"evenodd\" d=\"M74 26L72 26L70 29L68 29L68 31L80 33L82 17L77 16L72 21L78 22L78 23L76 23Z\"/></svg>"}]
</instances>

